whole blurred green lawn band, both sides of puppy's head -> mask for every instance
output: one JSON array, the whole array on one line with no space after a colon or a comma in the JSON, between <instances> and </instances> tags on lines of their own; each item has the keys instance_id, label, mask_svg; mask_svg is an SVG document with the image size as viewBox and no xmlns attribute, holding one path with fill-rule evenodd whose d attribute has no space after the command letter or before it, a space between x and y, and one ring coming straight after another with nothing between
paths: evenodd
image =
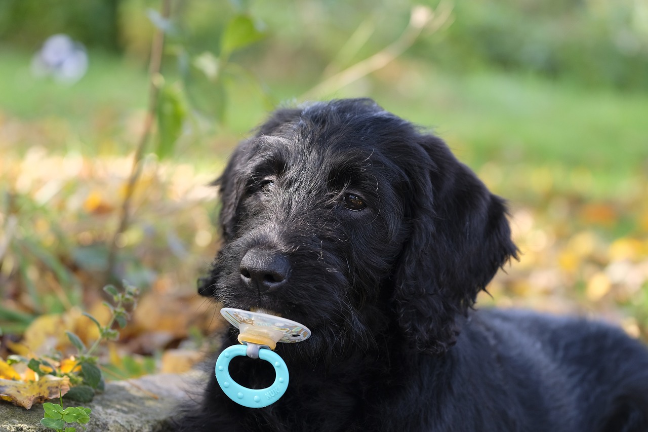
<instances>
[{"instance_id":1,"label":"whole blurred green lawn band, both sides of puppy's head","mask_svg":"<svg viewBox=\"0 0 648 432\"><path fill-rule=\"evenodd\" d=\"M28 53L3 49L0 56L0 110L27 122L62 122L62 134L69 136L52 134L50 149L72 148L84 154L132 149L133 143L124 142L120 134L129 116L145 108L144 67L91 53L86 77L74 86L62 86L31 77ZM398 67L396 79L388 70L367 80L368 91L358 91L360 86L353 84L335 96L374 97L395 114L435 130L474 169L495 163L504 182L526 184L530 180L519 177L535 170L537 176L552 176L550 181L566 191L580 188L579 193L605 198L623 193L645 173L645 93L579 88L494 71L451 75L421 62ZM266 84L277 101L290 101L307 90L295 88L289 74ZM213 168L205 153L222 158L266 115L257 91L239 85L229 89L229 99L227 127L208 130L201 139L180 146L178 160ZM107 140L113 145L105 145Z\"/></svg>"}]
</instances>

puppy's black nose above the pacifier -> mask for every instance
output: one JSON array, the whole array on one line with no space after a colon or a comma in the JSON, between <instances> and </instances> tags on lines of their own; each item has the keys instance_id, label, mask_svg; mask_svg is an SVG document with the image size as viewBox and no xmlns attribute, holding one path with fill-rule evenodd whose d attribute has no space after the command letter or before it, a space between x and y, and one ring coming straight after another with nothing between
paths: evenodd
<instances>
[{"instance_id":1,"label":"puppy's black nose above the pacifier","mask_svg":"<svg viewBox=\"0 0 648 432\"><path fill-rule=\"evenodd\" d=\"M283 285L290 273L288 259L277 252L251 248L240 263L241 280L259 293L274 291Z\"/></svg>"}]
</instances>

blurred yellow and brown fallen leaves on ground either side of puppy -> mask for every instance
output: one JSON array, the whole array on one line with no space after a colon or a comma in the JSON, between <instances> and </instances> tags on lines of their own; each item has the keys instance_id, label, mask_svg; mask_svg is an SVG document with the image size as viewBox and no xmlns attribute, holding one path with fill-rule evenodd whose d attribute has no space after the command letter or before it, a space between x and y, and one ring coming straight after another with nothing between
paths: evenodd
<instances>
[{"instance_id":1,"label":"blurred yellow and brown fallen leaves on ground either side of puppy","mask_svg":"<svg viewBox=\"0 0 648 432\"><path fill-rule=\"evenodd\" d=\"M11 129L36 143L24 155L12 150L20 139L7 138L10 129L0 132L0 187L13 197L0 206L0 245L7 245L0 250L0 324L17 329L5 330L0 354L31 358L57 350L65 358L56 363L62 372L76 365L66 357L73 347L65 331L85 344L98 337L82 311L101 324L110 317L100 295L105 245L131 158L57 154L27 126ZM214 189L207 184L220 169L216 163L200 172L186 163L145 161L132 225L117 239L121 276L144 293L119 341L100 353L100 363L115 377L148 373L148 360L156 370L187 370L209 341L201 337L222 322L214 305L196 294L195 283L218 241ZM496 276L491 296L483 294L479 304L596 314L646 338L648 178L641 174L631 182L644 186L602 200L586 196L576 182L592 173L572 171L561 169L563 180L574 184L561 184L548 167L520 164L509 172L491 162L480 170L491 189L511 198L511 226L522 254ZM67 391L64 380L47 377L0 361L3 398L14 403L41 401L54 385ZM55 392L58 397L58 387Z\"/></svg>"}]
</instances>

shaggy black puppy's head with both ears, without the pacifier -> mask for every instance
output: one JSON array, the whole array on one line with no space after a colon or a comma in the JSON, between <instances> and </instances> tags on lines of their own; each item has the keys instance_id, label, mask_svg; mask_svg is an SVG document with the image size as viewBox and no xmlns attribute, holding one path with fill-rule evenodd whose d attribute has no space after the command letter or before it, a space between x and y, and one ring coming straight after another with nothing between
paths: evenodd
<instances>
[{"instance_id":1,"label":"shaggy black puppy's head with both ears, without the pacifier","mask_svg":"<svg viewBox=\"0 0 648 432\"><path fill-rule=\"evenodd\" d=\"M391 333L441 354L516 256L502 199L368 99L278 110L217 184L223 245L200 293L302 322L314 350Z\"/></svg>"}]
</instances>

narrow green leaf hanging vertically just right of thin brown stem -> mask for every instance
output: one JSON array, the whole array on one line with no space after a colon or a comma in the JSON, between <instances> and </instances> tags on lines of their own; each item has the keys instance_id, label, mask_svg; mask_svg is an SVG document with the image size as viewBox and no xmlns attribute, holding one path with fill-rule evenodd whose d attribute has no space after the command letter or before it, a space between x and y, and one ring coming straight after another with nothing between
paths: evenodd
<instances>
[{"instance_id":1,"label":"narrow green leaf hanging vertically just right of thin brown stem","mask_svg":"<svg viewBox=\"0 0 648 432\"><path fill-rule=\"evenodd\" d=\"M160 160L173 153L182 134L187 109L179 86L164 86L157 101L157 149Z\"/></svg>"}]
</instances>

